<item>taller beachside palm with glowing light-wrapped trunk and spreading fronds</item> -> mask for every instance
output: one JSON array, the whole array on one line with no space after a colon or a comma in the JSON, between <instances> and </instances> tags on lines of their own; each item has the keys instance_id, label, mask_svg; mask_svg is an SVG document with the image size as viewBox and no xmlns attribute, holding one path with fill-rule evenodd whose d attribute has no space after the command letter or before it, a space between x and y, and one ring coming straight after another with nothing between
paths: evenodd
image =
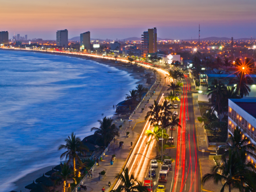
<instances>
[{"instance_id":1,"label":"taller beachside palm with glowing light-wrapped trunk and spreading fronds","mask_svg":"<svg viewBox=\"0 0 256 192\"><path fill-rule=\"evenodd\" d=\"M84 150L87 150L87 147L83 146L81 139L76 137L76 135L74 135L74 132L71 133L71 137L68 136L68 138L65 139L65 142L66 142L65 145L61 144L58 148L58 150L67 149L67 151L65 151L63 154L60 155L60 159L65 157L66 159L68 159L67 163L69 163L70 161L73 161L74 174L76 174L75 159L77 159L79 164L82 164L82 161L78 153L84 155Z\"/></svg>"}]
</instances>

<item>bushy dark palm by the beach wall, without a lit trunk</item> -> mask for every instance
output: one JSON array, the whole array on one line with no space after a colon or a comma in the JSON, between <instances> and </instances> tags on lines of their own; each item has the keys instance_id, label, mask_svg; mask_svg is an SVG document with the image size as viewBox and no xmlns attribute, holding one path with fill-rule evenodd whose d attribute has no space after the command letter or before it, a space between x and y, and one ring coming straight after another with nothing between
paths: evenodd
<instances>
[{"instance_id":1,"label":"bushy dark palm by the beach wall, without a lit trunk","mask_svg":"<svg viewBox=\"0 0 256 192\"><path fill-rule=\"evenodd\" d=\"M119 136L118 128L113 123L113 119L109 117L104 117L98 120L100 126L99 128L93 127L91 131L95 131L94 134L98 134L99 138L104 146L108 146L109 142L114 138L114 136Z\"/></svg>"}]
</instances>

